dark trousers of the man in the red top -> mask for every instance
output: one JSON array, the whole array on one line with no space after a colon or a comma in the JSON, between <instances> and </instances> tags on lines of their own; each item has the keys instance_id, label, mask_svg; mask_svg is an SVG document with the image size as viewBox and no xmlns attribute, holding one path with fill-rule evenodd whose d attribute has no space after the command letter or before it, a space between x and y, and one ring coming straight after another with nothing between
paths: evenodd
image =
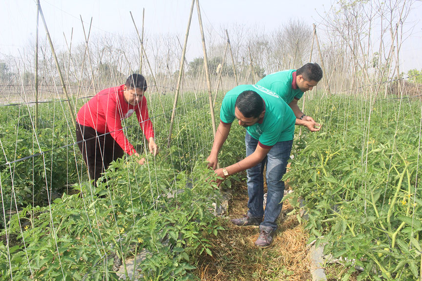
<instances>
[{"instance_id":1,"label":"dark trousers of the man in the red top","mask_svg":"<svg viewBox=\"0 0 422 281\"><path fill-rule=\"evenodd\" d=\"M94 185L108 165L125 154L110 134L100 134L93 128L78 123L76 140L88 166L89 179L94 180Z\"/></svg>"}]
</instances>

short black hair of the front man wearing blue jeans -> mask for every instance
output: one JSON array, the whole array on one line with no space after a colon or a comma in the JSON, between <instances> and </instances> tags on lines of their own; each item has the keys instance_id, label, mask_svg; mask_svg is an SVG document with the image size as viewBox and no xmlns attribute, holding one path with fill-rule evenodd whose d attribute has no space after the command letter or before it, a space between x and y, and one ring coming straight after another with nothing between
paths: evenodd
<instances>
[{"instance_id":1,"label":"short black hair of the front man wearing blue jeans","mask_svg":"<svg viewBox=\"0 0 422 281\"><path fill-rule=\"evenodd\" d=\"M237 97L234 107L246 118L258 118L264 110L264 100L254 91L243 91Z\"/></svg>"}]
</instances>

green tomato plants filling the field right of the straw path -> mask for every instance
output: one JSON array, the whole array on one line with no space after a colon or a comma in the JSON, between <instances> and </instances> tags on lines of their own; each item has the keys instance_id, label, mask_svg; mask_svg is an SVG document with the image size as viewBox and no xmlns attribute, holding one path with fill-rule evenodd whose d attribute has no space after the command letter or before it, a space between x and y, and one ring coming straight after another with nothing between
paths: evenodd
<instances>
[{"instance_id":1,"label":"green tomato plants filling the field right of the straw path","mask_svg":"<svg viewBox=\"0 0 422 281\"><path fill-rule=\"evenodd\" d=\"M421 100L377 100L370 111L372 102L332 96L307 104L322 130L295 141L286 177L295 192L285 200L298 208L303 199L310 241L341 259L343 280L419 280Z\"/></svg>"}]
</instances>

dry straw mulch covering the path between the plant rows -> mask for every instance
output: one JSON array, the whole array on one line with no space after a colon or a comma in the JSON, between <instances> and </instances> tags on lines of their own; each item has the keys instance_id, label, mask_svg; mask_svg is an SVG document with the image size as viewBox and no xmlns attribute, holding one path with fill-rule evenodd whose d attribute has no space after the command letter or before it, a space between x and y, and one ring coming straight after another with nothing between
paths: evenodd
<instances>
[{"instance_id":1,"label":"dry straw mulch covering the path between the plant rows","mask_svg":"<svg viewBox=\"0 0 422 281\"><path fill-rule=\"evenodd\" d=\"M247 212L246 183L235 183L232 191L229 217L241 217ZM204 281L311 280L308 235L295 216L286 216L292 209L288 202L283 204L278 233L272 245L265 249L254 245L257 226L240 227L232 225L228 218L221 219L225 230L211 238L212 257L206 254L200 257L199 278Z\"/></svg>"}]
</instances>

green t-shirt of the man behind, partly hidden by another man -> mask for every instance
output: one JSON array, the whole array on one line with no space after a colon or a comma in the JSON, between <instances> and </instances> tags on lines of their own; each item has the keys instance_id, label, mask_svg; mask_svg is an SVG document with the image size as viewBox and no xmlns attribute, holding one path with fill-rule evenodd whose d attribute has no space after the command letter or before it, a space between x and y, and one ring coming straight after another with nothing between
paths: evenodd
<instances>
[{"instance_id":1,"label":"green t-shirt of the man behind, partly hidden by another man","mask_svg":"<svg viewBox=\"0 0 422 281\"><path fill-rule=\"evenodd\" d=\"M294 98L299 100L303 96L303 92L299 88L292 88L293 73L295 71L295 69L291 69L269 74L259 80L256 85L273 91L289 104Z\"/></svg>"}]
</instances>

